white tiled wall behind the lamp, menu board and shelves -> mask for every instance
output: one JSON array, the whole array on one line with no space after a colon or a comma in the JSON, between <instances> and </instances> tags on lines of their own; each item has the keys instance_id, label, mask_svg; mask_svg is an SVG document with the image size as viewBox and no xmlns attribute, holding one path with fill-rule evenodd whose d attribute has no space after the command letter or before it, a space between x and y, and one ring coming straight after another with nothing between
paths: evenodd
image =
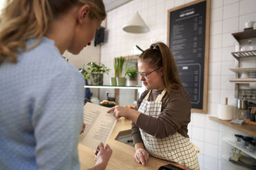
<instances>
[{"instance_id":1,"label":"white tiled wall behind the lamp, menu board and shelves","mask_svg":"<svg viewBox=\"0 0 256 170\"><path fill-rule=\"evenodd\" d=\"M107 14L108 38L101 48L100 61L111 66L113 58L128 56L135 44L147 49L154 40L167 42L167 10L191 1L134 0L112 10ZM228 164L222 162L222 152L230 151L222 142L222 138L241 132L211 121L209 116L217 116L217 105L224 104L226 97L228 105L235 106L235 86L228 81L235 77L235 74L228 70L235 64L231 52L235 51L236 41L231 33L242 31L246 21L255 21L255 5L255 0L211 0L208 111L207 114L192 113L188 127L191 142L200 147L198 160L204 170L231 169ZM150 32L129 34L122 31L122 25L136 10L149 26ZM105 77L105 81L109 81L109 78ZM129 95L127 91L121 93Z\"/></svg>"}]
</instances>

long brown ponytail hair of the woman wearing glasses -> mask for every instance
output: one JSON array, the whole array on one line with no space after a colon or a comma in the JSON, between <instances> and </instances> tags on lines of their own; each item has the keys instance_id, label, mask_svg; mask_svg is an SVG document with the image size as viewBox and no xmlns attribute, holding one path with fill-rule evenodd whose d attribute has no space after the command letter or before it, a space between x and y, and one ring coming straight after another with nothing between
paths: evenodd
<instances>
[{"instance_id":1,"label":"long brown ponytail hair of the woman wearing glasses","mask_svg":"<svg viewBox=\"0 0 256 170\"><path fill-rule=\"evenodd\" d=\"M182 86L182 81L180 80L175 58L169 47L163 42L152 44L149 49L140 54L139 60L147 62L152 69L162 67L162 79L167 89L167 94L171 95L171 91L186 93L186 90L184 90Z\"/></svg>"}]
</instances>

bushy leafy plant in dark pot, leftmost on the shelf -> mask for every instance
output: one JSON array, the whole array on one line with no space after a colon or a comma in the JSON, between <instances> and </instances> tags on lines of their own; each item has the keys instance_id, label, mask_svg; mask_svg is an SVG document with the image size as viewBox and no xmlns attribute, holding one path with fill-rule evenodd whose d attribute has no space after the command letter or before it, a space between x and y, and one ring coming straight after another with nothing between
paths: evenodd
<instances>
[{"instance_id":1,"label":"bushy leafy plant in dark pot, leftmost on the shelf","mask_svg":"<svg viewBox=\"0 0 256 170\"><path fill-rule=\"evenodd\" d=\"M110 69L107 69L107 66L104 64L96 64L95 62L89 62L87 64L87 71L83 74L85 79L90 80L90 85L103 85L103 74L109 73Z\"/></svg>"}]
</instances>

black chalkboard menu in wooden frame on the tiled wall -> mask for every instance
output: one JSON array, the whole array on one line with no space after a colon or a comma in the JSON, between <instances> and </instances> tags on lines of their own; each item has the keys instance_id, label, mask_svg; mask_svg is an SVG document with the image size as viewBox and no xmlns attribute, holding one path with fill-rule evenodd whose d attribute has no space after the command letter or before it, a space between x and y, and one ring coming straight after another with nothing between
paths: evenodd
<instances>
[{"instance_id":1,"label":"black chalkboard menu in wooden frame on the tiled wall","mask_svg":"<svg viewBox=\"0 0 256 170\"><path fill-rule=\"evenodd\" d=\"M191 97L194 112L206 112L207 106L208 3L208 0L194 1L168 10L168 45L176 60L182 84Z\"/></svg>"}]
</instances>

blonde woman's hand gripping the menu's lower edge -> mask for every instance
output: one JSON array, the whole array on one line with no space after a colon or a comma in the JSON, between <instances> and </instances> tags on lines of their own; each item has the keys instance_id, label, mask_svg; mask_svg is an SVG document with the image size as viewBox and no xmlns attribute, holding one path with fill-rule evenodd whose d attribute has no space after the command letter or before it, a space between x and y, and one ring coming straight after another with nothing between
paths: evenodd
<instances>
[{"instance_id":1,"label":"blonde woman's hand gripping the menu's lower edge","mask_svg":"<svg viewBox=\"0 0 256 170\"><path fill-rule=\"evenodd\" d=\"M98 147L100 148L100 150L97 153L95 153L96 154L95 165L100 166L100 169L105 169L107 167L107 163L109 162L110 156L112 154L112 149L109 147L109 145L106 145L106 147L104 148L103 143L100 143Z\"/></svg>"}]
</instances>

